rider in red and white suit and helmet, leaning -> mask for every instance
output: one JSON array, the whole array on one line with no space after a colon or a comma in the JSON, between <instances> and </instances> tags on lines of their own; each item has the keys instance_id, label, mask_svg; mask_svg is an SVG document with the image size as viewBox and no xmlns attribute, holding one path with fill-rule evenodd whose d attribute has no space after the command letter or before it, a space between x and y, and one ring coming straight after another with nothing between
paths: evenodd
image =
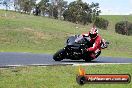
<instances>
[{"instance_id":1,"label":"rider in red and white suit and helmet, leaning","mask_svg":"<svg viewBox=\"0 0 132 88\"><path fill-rule=\"evenodd\" d=\"M102 38L98 34L98 30L96 27L93 27L87 34L82 34L83 37L88 36L90 39L90 43L93 45L90 48L87 48L86 51L90 52L90 57L93 59L96 58L97 53L101 52L101 41Z\"/></svg>"}]
</instances>

